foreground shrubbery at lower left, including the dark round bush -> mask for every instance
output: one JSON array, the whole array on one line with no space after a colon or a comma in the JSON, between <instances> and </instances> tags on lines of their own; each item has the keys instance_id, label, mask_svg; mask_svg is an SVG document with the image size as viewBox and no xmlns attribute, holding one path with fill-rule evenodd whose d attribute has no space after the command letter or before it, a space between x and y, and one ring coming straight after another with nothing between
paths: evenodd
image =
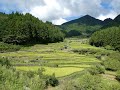
<instances>
[{"instance_id":1,"label":"foreground shrubbery at lower left, including the dark round bush","mask_svg":"<svg viewBox=\"0 0 120 90\"><path fill-rule=\"evenodd\" d=\"M44 90L57 86L55 76L44 75L43 71L17 71L6 58L0 58L0 90Z\"/></svg>"}]
</instances>

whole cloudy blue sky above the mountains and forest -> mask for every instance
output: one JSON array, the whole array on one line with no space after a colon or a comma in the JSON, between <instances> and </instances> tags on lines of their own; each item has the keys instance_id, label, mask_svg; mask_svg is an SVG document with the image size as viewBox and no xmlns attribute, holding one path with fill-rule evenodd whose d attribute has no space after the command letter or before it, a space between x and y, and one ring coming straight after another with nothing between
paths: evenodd
<instances>
[{"instance_id":1,"label":"whole cloudy blue sky above the mountains and forest","mask_svg":"<svg viewBox=\"0 0 120 90\"><path fill-rule=\"evenodd\" d=\"M120 14L120 0L0 0L0 12L31 13L60 25L89 14L104 20Z\"/></svg>"}]
</instances>

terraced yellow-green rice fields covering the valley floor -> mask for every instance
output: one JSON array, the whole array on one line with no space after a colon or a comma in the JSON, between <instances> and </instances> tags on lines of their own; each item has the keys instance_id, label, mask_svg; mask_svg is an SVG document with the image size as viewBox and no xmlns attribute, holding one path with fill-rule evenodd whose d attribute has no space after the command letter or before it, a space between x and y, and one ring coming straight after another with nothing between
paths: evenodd
<instances>
[{"instance_id":1,"label":"terraced yellow-green rice fields covering the valley floor","mask_svg":"<svg viewBox=\"0 0 120 90\"><path fill-rule=\"evenodd\" d=\"M48 45L37 44L23 47L16 52L0 53L0 57L7 57L15 65L17 70L36 71L40 67L45 68L45 74L56 77L70 75L82 71L100 61L93 55L74 53L72 50L95 49L102 50L87 44L87 39L66 39L64 42Z\"/></svg>"}]
</instances>

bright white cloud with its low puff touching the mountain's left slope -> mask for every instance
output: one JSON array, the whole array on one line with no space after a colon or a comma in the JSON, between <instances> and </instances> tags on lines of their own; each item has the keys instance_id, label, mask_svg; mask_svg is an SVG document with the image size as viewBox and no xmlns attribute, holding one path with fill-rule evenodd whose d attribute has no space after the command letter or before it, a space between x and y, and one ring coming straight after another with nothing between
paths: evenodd
<instances>
[{"instance_id":1,"label":"bright white cloud with its low puff touching the mountain's left slope","mask_svg":"<svg viewBox=\"0 0 120 90\"><path fill-rule=\"evenodd\" d=\"M31 8L30 13L43 21L53 21L54 24L66 22L63 18L71 14L71 11L66 7L62 7L57 0L44 0L44 3L43 6Z\"/></svg>"}]
</instances>

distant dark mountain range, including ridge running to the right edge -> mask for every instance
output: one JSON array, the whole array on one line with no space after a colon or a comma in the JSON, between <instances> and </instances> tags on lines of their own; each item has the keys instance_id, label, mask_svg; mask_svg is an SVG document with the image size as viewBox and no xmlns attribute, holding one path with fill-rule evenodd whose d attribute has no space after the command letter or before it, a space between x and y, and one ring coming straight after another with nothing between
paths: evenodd
<instances>
[{"instance_id":1,"label":"distant dark mountain range, including ridge running to the right edge","mask_svg":"<svg viewBox=\"0 0 120 90\"><path fill-rule=\"evenodd\" d=\"M107 18L104 21L86 15L79 19L66 22L62 24L60 27L64 31L66 31L66 36L68 37L80 36L80 35L91 36L94 32L100 29L105 29L112 26L119 26L119 24L120 24L120 15L118 15L114 20Z\"/></svg>"}]
</instances>

